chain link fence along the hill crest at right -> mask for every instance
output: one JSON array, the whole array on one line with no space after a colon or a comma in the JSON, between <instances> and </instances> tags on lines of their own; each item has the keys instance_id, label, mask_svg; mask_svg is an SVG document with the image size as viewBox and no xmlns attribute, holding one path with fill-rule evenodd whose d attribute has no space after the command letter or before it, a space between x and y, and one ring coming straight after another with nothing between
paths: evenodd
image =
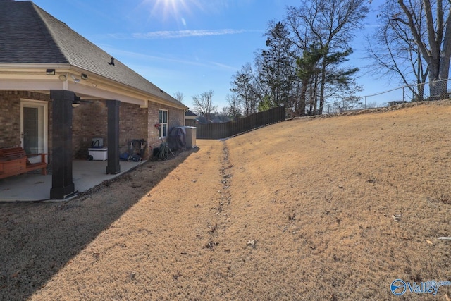
<instances>
[{"instance_id":1,"label":"chain link fence along the hill crest at right","mask_svg":"<svg viewBox=\"0 0 451 301\"><path fill-rule=\"evenodd\" d=\"M363 97L340 99L324 106L324 114L340 113L362 109L381 108L394 106L404 102L423 102L440 99L450 99L451 91L448 90L449 80L437 80L423 82L416 85L397 87L376 94Z\"/></svg>"}]
</instances>

